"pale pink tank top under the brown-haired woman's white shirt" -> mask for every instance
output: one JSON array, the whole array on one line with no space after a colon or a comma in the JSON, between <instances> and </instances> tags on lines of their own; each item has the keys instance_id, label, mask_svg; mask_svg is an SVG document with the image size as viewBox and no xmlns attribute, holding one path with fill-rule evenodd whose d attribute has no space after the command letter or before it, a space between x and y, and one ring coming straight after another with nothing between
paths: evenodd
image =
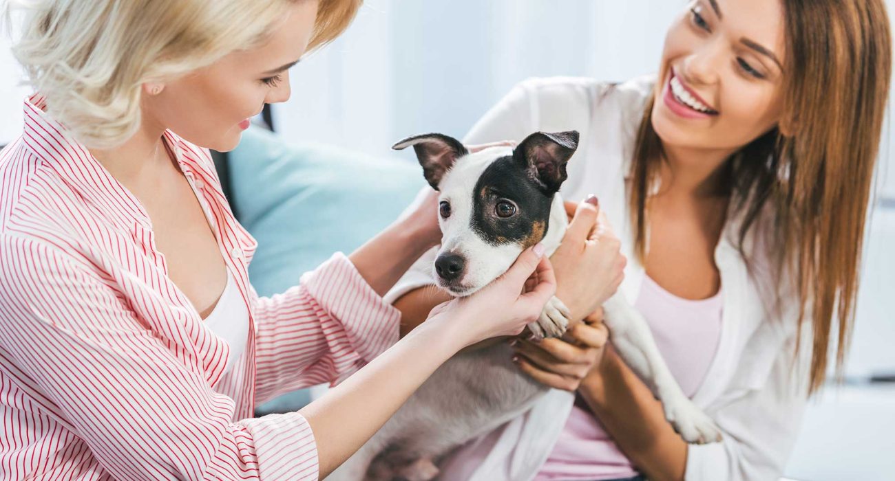
<instances>
[{"instance_id":1,"label":"pale pink tank top under the brown-haired woman's white shirt","mask_svg":"<svg viewBox=\"0 0 895 481\"><path fill-rule=\"evenodd\" d=\"M692 397L703 384L715 357L721 306L720 291L709 299L686 300L644 275L635 308L646 318L662 357L687 396ZM535 479L573 481L635 476L637 471L631 462L578 399L550 458Z\"/></svg>"}]
</instances>

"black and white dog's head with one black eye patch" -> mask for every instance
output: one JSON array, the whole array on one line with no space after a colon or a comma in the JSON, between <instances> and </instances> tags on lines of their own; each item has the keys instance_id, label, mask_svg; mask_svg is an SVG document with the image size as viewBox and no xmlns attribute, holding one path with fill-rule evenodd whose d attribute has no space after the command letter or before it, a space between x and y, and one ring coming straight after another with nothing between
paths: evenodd
<instances>
[{"instance_id":1,"label":"black and white dog's head with one black eye patch","mask_svg":"<svg viewBox=\"0 0 895 481\"><path fill-rule=\"evenodd\" d=\"M473 154L439 133L413 136L393 148L410 146L426 181L439 190L442 238L434 277L442 289L466 296L506 272L524 249L544 238L578 132L535 132L516 148Z\"/></svg>"}]
</instances>

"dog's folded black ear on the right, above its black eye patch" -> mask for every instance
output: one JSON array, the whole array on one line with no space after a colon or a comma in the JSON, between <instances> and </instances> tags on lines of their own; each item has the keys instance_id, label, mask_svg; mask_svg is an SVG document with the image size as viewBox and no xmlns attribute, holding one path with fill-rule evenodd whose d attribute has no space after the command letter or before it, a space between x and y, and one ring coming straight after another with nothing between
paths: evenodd
<instances>
[{"instance_id":1,"label":"dog's folded black ear on the right, above its black eye patch","mask_svg":"<svg viewBox=\"0 0 895 481\"><path fill-rule=\"evenodd\" d=\"M578 148L578 131L534 132L513 150L513 159L524 167L545 192L556 193L566 181L566 164Z\"/></svg>"}]
</instances>

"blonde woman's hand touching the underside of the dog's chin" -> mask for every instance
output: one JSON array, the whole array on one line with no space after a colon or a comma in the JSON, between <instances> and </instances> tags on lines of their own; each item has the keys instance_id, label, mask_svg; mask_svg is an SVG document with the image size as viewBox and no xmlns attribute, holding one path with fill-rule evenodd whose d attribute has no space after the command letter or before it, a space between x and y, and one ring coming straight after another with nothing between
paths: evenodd
<instances>
[{"instance_id":1,"label":"blonde woman's hand touching the underside of the dog's chin","mask_svg":"<svg viewBox=\"0 0 895 481\"><path fill-rule=\"evenodd\" d=\"M544 246L525 249L506 273L471 296L441 303L424 324L444 323L460 336L462 347L501 335L521 333L541 316L556 292L556 277ZM533 282L527 283L529 279Z\"/></svg>"}]
</instances>

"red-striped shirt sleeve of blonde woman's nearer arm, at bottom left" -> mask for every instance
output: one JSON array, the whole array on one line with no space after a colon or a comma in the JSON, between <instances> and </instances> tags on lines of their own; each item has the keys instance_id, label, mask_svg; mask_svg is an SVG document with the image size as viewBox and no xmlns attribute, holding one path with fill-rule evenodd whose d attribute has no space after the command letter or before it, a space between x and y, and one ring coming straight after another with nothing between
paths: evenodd
<instances>
[{"instance_id":1,"label":"red-striped shirt sleeve of blonde woman's nearer arm, at bottom left","mask_svg":"<svg viewBox=\"0 0 895 481\"><path fill-rule=\"evenodd\" d=\"M234 400L211 388L200 362L149 331L118 294L81 259L0 237L0 367L40 405L42 423L71 433L56 439L89 449L117 479L318 478L300 414L234 421ZM27 424L4 429L3 451L30 449L27 435L14 435Z\"/></svg>"}]
</instances>

